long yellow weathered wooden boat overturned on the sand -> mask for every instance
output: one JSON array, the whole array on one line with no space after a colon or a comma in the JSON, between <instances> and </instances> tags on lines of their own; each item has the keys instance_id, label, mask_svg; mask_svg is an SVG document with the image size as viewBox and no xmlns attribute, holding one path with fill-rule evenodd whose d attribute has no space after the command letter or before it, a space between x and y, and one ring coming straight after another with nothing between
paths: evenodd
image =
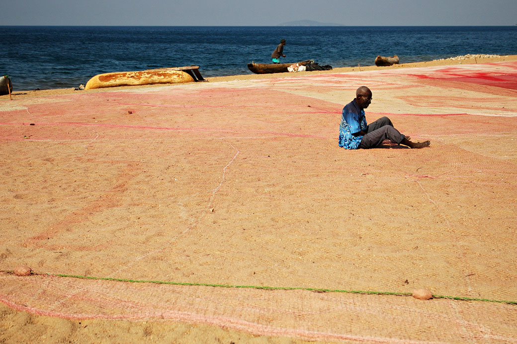
<instances>
[{"instance_id":1,"label":"long yellow weathered wooden boat overturned on the sand","mask_svg":"<svg viewBox=\"0 0 517 344\"><path fill-rule=\"evenodd\" d=\"M84 88L92 89L116 86L176 84L194 81L206 81L199 72L199 66L103 73L88 80Z\"/></svg>"}]
</instances>

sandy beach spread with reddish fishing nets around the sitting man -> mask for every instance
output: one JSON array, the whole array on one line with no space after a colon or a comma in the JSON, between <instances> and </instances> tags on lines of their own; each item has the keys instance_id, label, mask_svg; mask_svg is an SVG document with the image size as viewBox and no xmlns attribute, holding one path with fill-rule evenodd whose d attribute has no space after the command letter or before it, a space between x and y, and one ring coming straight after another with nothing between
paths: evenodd
<instances>
[{"instance_id":1,"label":"sandy beach spread with reddish fishing nets around the sitting man","mask_svg":"<svg viewBox=\"0 0 517 344\"><path fill-rule=\"evenodd\" d=\"M0 96L0 342L517 342L515 61Z\"/></svg>"}]
</instances>

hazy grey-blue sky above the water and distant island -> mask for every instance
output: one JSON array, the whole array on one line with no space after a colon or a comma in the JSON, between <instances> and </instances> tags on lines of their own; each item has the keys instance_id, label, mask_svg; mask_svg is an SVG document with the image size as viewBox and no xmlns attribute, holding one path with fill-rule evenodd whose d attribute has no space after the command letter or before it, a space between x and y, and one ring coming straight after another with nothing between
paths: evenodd
<instances>
[{"instance_id":1,"label":"hazy grey-blue sky above the water and distant island","mask_svg":"<svg viewBox=\"0 0 517 344\"><path fill-rule=\"evenodd\" d=\"M0 25L514 25L517 0L2 0Z\"/></svg>"}]
</instances>

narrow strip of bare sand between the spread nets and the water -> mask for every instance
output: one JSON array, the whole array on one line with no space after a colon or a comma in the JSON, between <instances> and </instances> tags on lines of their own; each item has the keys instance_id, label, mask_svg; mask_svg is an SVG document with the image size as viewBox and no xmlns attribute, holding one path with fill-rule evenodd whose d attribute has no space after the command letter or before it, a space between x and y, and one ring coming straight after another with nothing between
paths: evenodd
<instances>
[{"instance_id":1,"label":"narrow strip of bare sand between the spread nets and the water","mask_svg":"<svg viewBox=\"0 0 517 344\"><path fill-rule=\"evenodd\" d=\"M332 70L321 70L321 71L310 71L310 72L296 72L296 73L275 73L275 74L242 74L235 76L226 77L214 77L206 78L209 82L219 81L233 81L233 80L253 80L253 79L271 79L271 78L286 78L290 76L303 76L303 75L314 75L314 74L326 74L326 73L351 73L366 70L393 70L399 68L413 68L413 67L434 67L434 66L453 66L459 64L478 64L478 63L494 63L503 61L516 61L517 55L501 55L496 57L481 57L481 58L466 58L466 59L439 59L433 61L413 62L413 63L402 63L398 65L392 65L387 67L377 66L357 66L357 67L341 67L334 68ZM202 73L203 71L200 70ZM144 86L122 86L112 88L100 88L100 89L89 89L85 91L74 91L74 88L56 88L56 89L42 89L41 91L22 91L14 89L12 97L14 99L26 98L26 97L43 97L50 95L59 94L71 94L71 93L87 93L87 92L100 92L107 91L108 89L131 89L140 87L158 87L163 84L156 85L144 85ZM16 85L14 85L16 87ZM8 98L8 95L0 96L0 100Z\"/></svg>"}]
</instances>

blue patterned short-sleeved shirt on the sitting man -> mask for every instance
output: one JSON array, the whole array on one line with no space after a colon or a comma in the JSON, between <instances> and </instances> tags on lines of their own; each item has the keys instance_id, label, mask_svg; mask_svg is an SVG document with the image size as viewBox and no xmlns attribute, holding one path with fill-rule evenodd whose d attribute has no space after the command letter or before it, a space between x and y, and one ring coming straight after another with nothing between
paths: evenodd
<instances>
[{"instance_id":1,"label":"blue patterned short-sleeved shirt on the sitting man","mask_svg":"<svg viewBox=\"0 0 517 344\"><path fill-rule=\"evenodd\" d=\"M364 118L364 110L359 109L354 99L343 108L341 123L339 124L339 146L346 149L357 149L362 136L354 136L353 133L367 130L368 124Z\"/></svg>"}]
</instances>

